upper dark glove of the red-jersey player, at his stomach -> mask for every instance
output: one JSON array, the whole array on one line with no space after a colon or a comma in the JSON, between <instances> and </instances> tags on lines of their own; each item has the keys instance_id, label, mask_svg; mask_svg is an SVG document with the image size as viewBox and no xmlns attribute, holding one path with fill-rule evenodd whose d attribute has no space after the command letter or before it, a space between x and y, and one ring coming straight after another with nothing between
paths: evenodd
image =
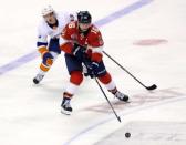
<instances>
[{"instance_id":1,"label":"upper dark glove of the red-jersey player, at his stomach","mask_svg":"<svg viewBox=\"0 0 186 145\"><path fill-rule=\"evenodd\" d=\"M86 49L82 45L74 43L72 54L76 56L79 60L83 61L86 56Z\"/></svg>"}]
</instances>

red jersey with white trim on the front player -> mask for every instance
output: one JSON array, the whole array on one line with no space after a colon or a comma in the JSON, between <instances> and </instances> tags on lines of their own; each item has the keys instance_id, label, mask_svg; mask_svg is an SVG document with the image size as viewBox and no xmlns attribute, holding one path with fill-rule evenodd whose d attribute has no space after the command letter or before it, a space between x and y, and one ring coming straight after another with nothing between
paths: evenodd
<instances>
[{"instance_id":1,"label":"red jersey with white trim on the front player","mask_svg":"<svg viewBox=\"0 0 186 145\"><path fill-rule=\"evenodd\" d=\"M103 40L102 34L95 25L91 25L89 31L82 33L79 30L78 21L70 22L65 25L62 31L62 38L65 40L63 44L60 45L61 50L65 53L72 53L73 43L78 43L87 49L87 53L92 61L102 61L102 50Z\"/></svg>"}]
</instances>

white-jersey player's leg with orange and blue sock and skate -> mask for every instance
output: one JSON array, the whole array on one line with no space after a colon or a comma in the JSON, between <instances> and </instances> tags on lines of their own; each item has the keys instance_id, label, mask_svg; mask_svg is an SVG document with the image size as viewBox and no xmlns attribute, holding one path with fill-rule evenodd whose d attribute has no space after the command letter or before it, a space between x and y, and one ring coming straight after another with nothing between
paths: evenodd
<instances>
[{"instance_id":1,"label":"white-jersey player's leg with orange and blue sock and skate","mask_svg":"<svg viewBox=\"0 0 186 145\"><path fill-rule=\"evenodd\" d=\"M41 80L44 77L45 73L51 69L53 62L61 53L59 48L59 39L51 39L49 43L49 50L40 49L39 50L42 55L42 62L40 64L39 73L33 79L35 84L40 83Z\"/></svg>"}]
</instances>

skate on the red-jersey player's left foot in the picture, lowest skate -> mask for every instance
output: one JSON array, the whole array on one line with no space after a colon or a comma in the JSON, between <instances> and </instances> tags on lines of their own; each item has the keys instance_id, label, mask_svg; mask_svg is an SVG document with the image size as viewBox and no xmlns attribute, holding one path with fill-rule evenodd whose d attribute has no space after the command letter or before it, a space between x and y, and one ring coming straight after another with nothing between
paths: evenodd
<instances>
[{"instance_id":1,"label":"skate on the red-jersey player's left foot in the picture, lowest skate","mask_svg":"<svg viewBox=\"0 0 186 145\"><path fill-rule=\"evenodd\" d=\"M63 97L62 104L61 104L61 113L65 115L71 115L72 113L72 107L71 107L71 99Z\"/></svg>"}]
</instances>

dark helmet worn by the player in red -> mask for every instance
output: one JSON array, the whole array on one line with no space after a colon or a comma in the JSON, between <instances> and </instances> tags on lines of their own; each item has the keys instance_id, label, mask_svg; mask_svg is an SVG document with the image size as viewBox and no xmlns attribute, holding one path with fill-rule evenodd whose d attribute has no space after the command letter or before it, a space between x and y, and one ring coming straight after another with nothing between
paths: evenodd
<instances>
[{"instance_id":1,"label":"dark helmet worn by the player in red","mask_svg":"<svg viewBox=\"0 0 186 145\"><path fill-rule=\"evenodd\" d=\"M80 11L78 13L78 21L80 23L91 23L92 17L89 11Z\"/></svg>"}]
</instances>

